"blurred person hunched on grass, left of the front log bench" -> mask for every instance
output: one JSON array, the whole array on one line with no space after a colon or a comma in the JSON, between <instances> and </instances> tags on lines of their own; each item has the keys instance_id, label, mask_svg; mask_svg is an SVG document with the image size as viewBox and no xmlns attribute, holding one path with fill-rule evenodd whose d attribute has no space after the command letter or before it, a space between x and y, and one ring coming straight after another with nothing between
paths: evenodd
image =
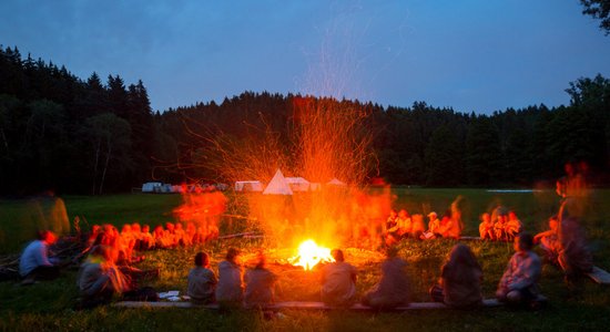
<instances>
[{"instance_id":1,"label":"blurred person hunched on grass, left of the front log bench","mask_svg":"<svg viewBox=\"0 0 610 332\"><path fill-rule=\"evenodd\" d=\"M81 292L81 309L108 304L114 293L129 291L125 277L114 264L114 249L98 245L81 266L77 284Z\"/></svg>"}]
</instances>

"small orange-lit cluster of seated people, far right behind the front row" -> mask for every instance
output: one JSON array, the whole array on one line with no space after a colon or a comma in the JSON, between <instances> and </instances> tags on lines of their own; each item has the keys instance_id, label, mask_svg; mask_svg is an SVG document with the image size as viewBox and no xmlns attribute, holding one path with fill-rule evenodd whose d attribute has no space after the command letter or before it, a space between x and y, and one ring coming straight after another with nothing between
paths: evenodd
<instances>
[{"instance_id":1,"label":"small orange-lit cluster of seated people, far right behind the front row","mask_svg":"<svg viewBox=\"0 0 610 332\"><path fill-rule=\"evenodd\" d=\"M523 228L521 220L512 210L498 207L490 215L485 212L480 216L479 235L481 240L512 241Z\"/></svg>"}]
</instances>

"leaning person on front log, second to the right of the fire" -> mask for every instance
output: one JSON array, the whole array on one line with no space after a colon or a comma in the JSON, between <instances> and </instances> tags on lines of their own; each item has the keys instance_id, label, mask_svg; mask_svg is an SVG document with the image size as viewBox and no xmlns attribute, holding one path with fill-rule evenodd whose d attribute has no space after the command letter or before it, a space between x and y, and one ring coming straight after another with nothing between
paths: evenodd
<instances>
[{"instance_id":1,"label":"leaning person on front log, second to the right of the fire","mask_svg":"<svg viewBox=\"0 0 610 332\"><path fill-rule=\"evenodd\" d=\"M363 297L364 305L375 309L393 309L409 304L407 262L397 253L396 247L386 249L387 258L382 263L382 280Z\"/></svg>"}]
</instances>

